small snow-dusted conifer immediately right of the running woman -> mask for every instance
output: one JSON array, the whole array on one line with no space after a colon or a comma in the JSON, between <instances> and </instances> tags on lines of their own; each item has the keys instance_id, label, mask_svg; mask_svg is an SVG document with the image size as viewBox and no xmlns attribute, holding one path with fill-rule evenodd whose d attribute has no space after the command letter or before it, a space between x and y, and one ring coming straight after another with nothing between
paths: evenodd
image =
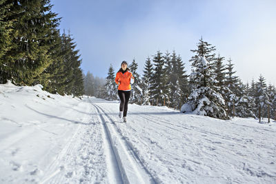
<instances>
[{"instance_id":1,"label":"small snow-dusted conifer immediately right of the running woman","mask_svg":"<svg viewBox=\"0 0 276 184\"><path fill-rule=\"evenodd\" d=\"M135 77L135 83L131 85L132 92L130 93L130 103L142 103L143 91L141 89L141 79L137 72L138 64L133 59L129 65L130 72Z\"/></svg>"}]
</instances>

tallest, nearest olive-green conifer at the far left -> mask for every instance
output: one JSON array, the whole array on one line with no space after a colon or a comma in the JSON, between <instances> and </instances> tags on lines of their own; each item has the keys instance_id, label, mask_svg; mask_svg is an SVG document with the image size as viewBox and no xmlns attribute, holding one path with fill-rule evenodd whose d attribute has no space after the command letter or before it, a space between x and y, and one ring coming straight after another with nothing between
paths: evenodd
<instances>
[{"instance_id":1,"label":"tallest, nearest olive-green conifer at the far left","mask_svg":"<svg viewBox=\"0 0 276 184\"><path fill-rule=\"evenodd\" d=\"M33 85L52 63L59 19L49 0L12 1L6 21L12 21L11 49L3 55L3 76L14 83ZM13 21L14 20L14 21ZM3 80L6 80L3 79Z\"/></svg>"}]
</instances>

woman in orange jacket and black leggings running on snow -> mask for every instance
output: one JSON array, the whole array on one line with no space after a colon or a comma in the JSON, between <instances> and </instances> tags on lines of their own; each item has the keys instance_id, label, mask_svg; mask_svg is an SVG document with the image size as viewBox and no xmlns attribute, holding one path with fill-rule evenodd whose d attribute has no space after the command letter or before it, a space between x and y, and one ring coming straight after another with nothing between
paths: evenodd
<instances>
[{"instance_id":1,"label":"woman in orange jacket and black leggings running on snow","mask_svg":"<svg viewBox=\"0 0 276 184\"><path fill-rule=\"evenodd\" d=\"M119 108L119 117L123 114L124 110L124 122L126 122L126 114L128 112L128 100L130 98L130 83L134 83L134 76L128 69L128 63L126 61L121 62L121 68L116 74L115 82L119 85L118 95L120 98L120 108Z\"/></svg>"}]
</instances>

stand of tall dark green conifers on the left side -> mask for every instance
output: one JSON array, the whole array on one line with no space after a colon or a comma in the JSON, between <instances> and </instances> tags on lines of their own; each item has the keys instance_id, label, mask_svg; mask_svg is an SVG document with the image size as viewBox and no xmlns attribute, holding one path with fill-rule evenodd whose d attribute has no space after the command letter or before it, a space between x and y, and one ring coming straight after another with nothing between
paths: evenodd
<instances>
[{"instance_id":1,"label":"stand of tall dark green conifers on the left side","mask_svg":"<svg viewBox=\"0 0 276 184\"><path fill-rule=\"evenodd\" d=\"M61 34L50 0L0 0L0 83L41 83L58 94L83 94L81 59L70 33Z\"/></svg>"}]
</instances>

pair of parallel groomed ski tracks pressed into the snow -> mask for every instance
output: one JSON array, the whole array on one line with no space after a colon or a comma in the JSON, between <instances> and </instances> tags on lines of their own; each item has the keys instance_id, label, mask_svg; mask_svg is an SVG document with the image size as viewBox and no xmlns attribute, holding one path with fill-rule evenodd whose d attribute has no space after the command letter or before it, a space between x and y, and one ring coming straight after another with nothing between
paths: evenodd
<instances>
[{"instance_id":1,"label":"pair of parallel groomed ski tracks pressed into the snow","mask_svg":"<svg viewBox=\"0 0 276 184\"><path fill-rule=\"evenodd\" d=\"M115 121L97 103L91 102L91 104L97 108L104 128L108 132L108 139L115 152L124 183L156 183L155 178L148 172L130 143L118 132Z\"/></svg>"}]
</instances>

